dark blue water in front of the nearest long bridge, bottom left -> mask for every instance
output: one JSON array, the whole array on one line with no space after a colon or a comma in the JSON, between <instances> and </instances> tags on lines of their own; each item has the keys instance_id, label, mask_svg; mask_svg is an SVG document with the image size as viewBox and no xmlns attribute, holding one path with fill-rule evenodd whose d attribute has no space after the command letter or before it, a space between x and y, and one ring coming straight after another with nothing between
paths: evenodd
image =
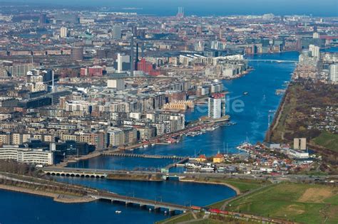
<instances>
[{"instance_id":1,"label":"dark blue water in front of the nearest long bridge, bottom left","mask_svg":"<svg viewBox=\"0 0 338 224\"><path fill-rule=\"evenodd\" d=\"M94 201L66 204L52 198L0 191L0 223L154 223L167 218L137 207ZM121 210L121 214L116 214ZM137 220L137 221L136 221Z\"/></svg>"}]
</instances>

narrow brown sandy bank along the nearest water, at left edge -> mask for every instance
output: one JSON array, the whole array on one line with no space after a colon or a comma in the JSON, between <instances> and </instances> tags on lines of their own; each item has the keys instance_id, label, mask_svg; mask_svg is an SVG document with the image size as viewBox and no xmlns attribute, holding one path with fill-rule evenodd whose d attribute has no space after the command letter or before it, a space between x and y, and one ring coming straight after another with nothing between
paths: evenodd
<instances>
[{"instance_id":1,"label":"narrow brown sandy bank along the nearest water, at left edge","mask_svg":"<svg viewBox=\"0 0 338 224\"><path fill-rule=\"evenodd\" d=\"M36 196L44 196L48 198L53 198L53 201L60 203L87 203L91 201L96 201L95 198L91 197L76 197L76 196L66 196L58 193L50 193L44 191L36 191L29 188L22 188L18 186L7 186L4 184L0 184L0 189L5 191L15 191L19 193L29 193Z\"/></svg>"}]
</instances>

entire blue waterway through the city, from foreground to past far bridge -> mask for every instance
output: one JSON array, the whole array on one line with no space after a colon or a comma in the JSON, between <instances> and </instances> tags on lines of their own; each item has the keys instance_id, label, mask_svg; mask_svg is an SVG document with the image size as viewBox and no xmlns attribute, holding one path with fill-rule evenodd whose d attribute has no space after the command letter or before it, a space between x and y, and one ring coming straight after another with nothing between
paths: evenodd
<instances>
[{"instance_id":1,"label":"entire blue waterway through the city, from foreground to past far bridge","mask_svg":"<svg viewBox=\"0 0 338 224\"><path fill-rule=\"evenodd\" d=\"M297 60L298 53L280 53L255 55L252 59ZM230 153L236 153L235 146L245 141L262 141L267 130L269 110L276 110L281 97L275 90L285 88L294 63L250 62L255 68L250 74L237 80L224 81L232 102L242 100L241 112L229 110L232 122L230 127L220 127L198 137L185 137L178 144L151 146L147 149L134 150L140 154L176 154L193 156L195 151L212 155L224 150L228 145ZM243 95L248 92L248 95ZM187 119L195 119L206 114L206 108L188 112ZM148 159L140 161L130 158L111 158L102 156L88 161L72 164L73 167L94 169L134 169L135 167L165 166L170 160ZM163 200L185 205L206 206L215 201L235 196L235 191L225 186L183 183L179 181L145 182L145 181L111 181L86 178L58 178L58 181L78 183L85 186L102 188L116 193L153 200ZM125 207L106 202L83 204L56 203L51 198L0 191L0 223L154 223L165 218L164 213L149 213L136 207ZM115 210L121 210L116 214Z\"/></svg>"}]
</instances>

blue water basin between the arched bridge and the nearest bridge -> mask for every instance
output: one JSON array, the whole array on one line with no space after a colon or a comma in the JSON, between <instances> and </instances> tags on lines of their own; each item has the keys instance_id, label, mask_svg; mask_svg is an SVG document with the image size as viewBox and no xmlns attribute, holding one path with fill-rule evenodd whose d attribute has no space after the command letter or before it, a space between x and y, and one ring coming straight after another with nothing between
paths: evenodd
<instances>
[{"instance_id":1,"label":"blue water basin between the arched bridge and the nearest bridge","mask_svg":"<svg viewBox=\"0 0 338 224\"><path fill-rule=\"evenodd\" d=\"M221 185L182 181L115 181L107 179L54 177L57 181L105 189L114 193L182 205L207 206L235 196L235 191Z\"/></svg>"}]
</instances>

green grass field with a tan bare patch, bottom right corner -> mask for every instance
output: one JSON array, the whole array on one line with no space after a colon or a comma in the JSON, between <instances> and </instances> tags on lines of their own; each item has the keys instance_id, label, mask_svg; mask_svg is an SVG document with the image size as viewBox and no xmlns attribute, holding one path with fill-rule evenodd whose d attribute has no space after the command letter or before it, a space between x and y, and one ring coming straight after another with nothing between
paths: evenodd
<instances>
[{"instance_id":1,"label":"green grass field with a tan bare patch, bottom right corner","mask_svg":"<svg viewBox=\"0 0 338 224\"><path fill-rule=\"evenodd\" d=\"M338 188L281 183L232 201L227 209L301 223L338 223Z\"/></svg>"}]
</instances>

